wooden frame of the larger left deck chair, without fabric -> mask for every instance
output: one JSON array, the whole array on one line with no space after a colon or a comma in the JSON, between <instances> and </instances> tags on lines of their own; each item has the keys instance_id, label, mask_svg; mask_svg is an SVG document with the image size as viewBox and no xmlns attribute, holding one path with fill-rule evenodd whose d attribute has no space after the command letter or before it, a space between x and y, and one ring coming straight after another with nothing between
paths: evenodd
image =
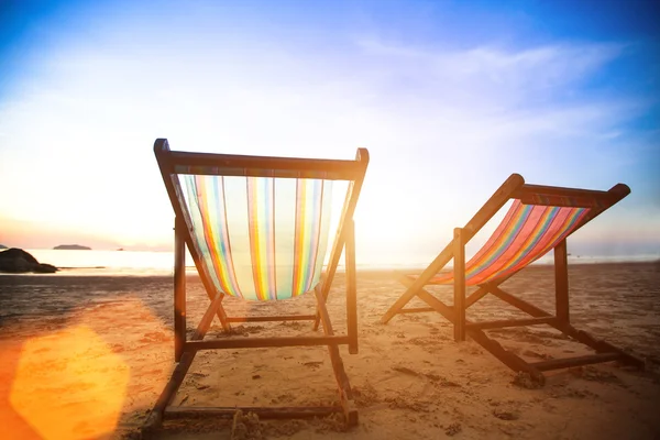
<instances>
[{"instance_id":1,"label":"wooden frame of the larger left deck chair, without fabric","mask_svg":"<svg viewBox=\"0 0 660 440\"><path fill-rule=\"evenodd\" d=\"M355 279L355 239L353 212L360 196L366 167L369 152L358 148L355 161L305 160L287 157L240 156L226 154L206 154L175 152L169 150L166 139L158 139L154 152L161 174L175 211L175 264L174 264L174 351L177 363L163 393L158 397L145 425L145 430L161 426L165 418L209 415L216 417L233 417L238 409L254 413L261 418L302 418L327 416L341 413L348 426L358 425L358 410L353 405L353 395L339 345L346 344L349 353L358 353L358 310ZM222 307L226 294L217 292L209 274L201 263L201 255L194 243L193 226L185 219L183 207L185 201L178 178L175 173L179 167L197 167L193 174L213 174L223 176L256 176L256 177L294 177L294 178L329 178L350 180L344 206L340 217L334 244L331 248L330 260L321 282L315 288L317 311L315 315L289 316L246 316L229 317ZM186 338L186 246L206 288L210 305L204 314L197 330L188 340ZM342 251L344 251L346 273L346 334L336 334L326 307L328 294ZM218 317L224 331L231 331L232 322L263 321L314 321L314 329L322 323L323 336L319 337L274 337L274 338L224 338L205 340L215 317ZM178 388L193 364L199 350L212 349L251 349L298 345L327 345L332 370L339 388L340 406L330 407L170 407Z\"/></svg>"}]
</instances>

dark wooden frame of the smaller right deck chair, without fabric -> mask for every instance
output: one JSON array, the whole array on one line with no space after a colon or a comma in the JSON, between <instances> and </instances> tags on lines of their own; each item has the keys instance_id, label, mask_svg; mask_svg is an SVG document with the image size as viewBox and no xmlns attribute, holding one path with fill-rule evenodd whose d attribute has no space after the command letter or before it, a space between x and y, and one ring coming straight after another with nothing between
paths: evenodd
<instances>
[{"instance_id":1,"label":"dark wooden frame of the smaller right deck chair, without fabric","mask_svg":"<svg viewBox=\"0 0 660 440\"><path fill-rule=\"evenodd\" d=\"M514 274L495 279L493 282L477 285L477 289L465 297L465 244L488 222L488 220L502 209L510 199L520 199L522 202L536 205L539 198L553 198L552 206L591 207L588 215L573 230L582 228L596 216L622 200L630 194L630 188L624 184L617 184L608 191L574 189L563 187L539 186L525 184L522 176L513 174L476 212L476 215L463 227L454 229L453 240L438 254L436 260L417 277L402 277L400 282L407 286L407 290L387 310L381 321L387 323L398 314L415 314L437 311L453 323L454 340L464 341L470 336L475 342L495 355L504 364L517 372L526 372L531 377L544 383L542 372L586 365L607 361L619 361L637 367L644 367L644 361L625 353L616 346L593 338L591 334L575 329L570 322L569 311L569 274L566 242L562 240L554 248L554 280L556 280L556 314L552 315L520 298L504 292L499 285ZM564 198L566 201L561 201ZM570 198L570 200L568 200ZM558 202L554 202L558 201ZM431 293L426 290L426 285L433 284L431 278L453 258L453 306L448 306ZM482 299L487 294L508 302L517 309L528 314L531 318L508 319L497 321L471 322L465 318L469 307ZM414 297L418 297L428 307L404 308ZM548 361L529 363L517 354L505 350L497 341L488 338L484 330L507 327L522 327L532 324L550 324L563 334L588 345L596 354L575 356L568 359L553 359Z\"/></svg>"}]
</instances>

